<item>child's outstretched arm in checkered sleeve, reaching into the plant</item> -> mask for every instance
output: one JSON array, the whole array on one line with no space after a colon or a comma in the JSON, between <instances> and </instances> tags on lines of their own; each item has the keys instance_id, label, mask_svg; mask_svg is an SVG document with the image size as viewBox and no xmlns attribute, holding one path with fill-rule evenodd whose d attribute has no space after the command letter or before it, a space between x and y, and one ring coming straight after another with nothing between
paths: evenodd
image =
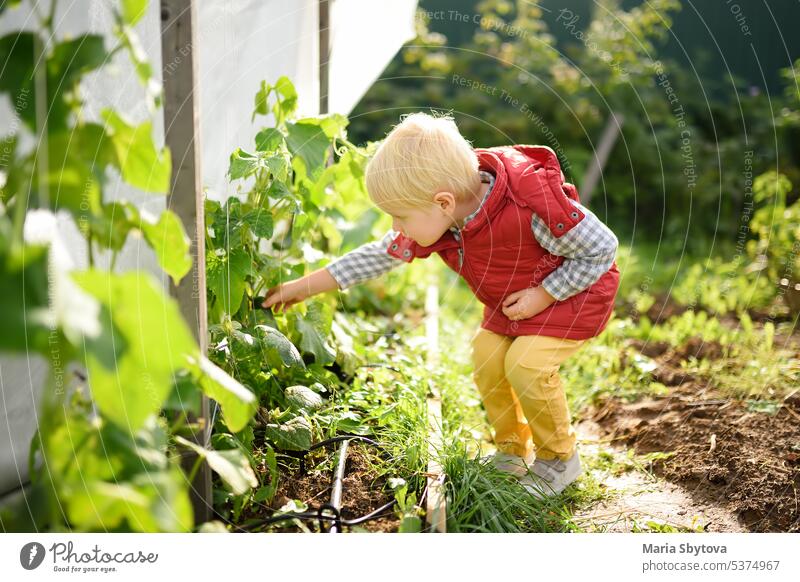
<instances>
[{"instance_id":1,"label":"child's outstretched arm in checkered sleeve, reaching into the plant","mask_svg":"<svg viewBox=\"0 0 800 582\"><path fill-rule=\"evenodd\" d=\"M389 243L396 236L397 232L390 229L382 240L363 244L305 277L270 289L262 307L269 308L276 305L277 312L286 311L291 305L305 301L318 293L347 289L404 264L402 260L386 252Z\"/></svg>"}]
</instances>

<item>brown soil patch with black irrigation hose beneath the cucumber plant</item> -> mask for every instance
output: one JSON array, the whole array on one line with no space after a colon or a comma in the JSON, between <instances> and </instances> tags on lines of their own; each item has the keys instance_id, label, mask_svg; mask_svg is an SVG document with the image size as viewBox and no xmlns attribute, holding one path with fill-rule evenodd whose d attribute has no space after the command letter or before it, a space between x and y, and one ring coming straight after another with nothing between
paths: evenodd
<instances>
[{"instance_id":1,"label":"brown soil patch with black irrigation hose beneath the cucumber plant","mask_svg":"<svg viewBox=\"0 0 800 582\"><path fill-rule=\"evenodd\" d=\"M362 517L393 499L392 493L386 486L386 479L375 477L374 469L370 467L370 459L373 460L373 463L376 460L375 453L367 451L367 448L369 445L351 441L347 449L345 476L342 481L342 517L344 519ZM338 446L331 445L326 449L327 451L315 450L307 455L308 472L305 475L299 474L298 470L292 473L282 468L281 483L272 500L271 507L262 507L257 512L258 515L248 515L245 519L269 517L274 510L292 499L308 504L309 513L315 513L318 507L328 503L333 480L332 466L338 454ZM331 455L331 462L325 464L324 470L315 470L314 465L324 462L326 455ZM316 521L304 520L304 523L311 531L319 531ZM302 531L292 525L290 521L283 522L283 524L285 527L280 527L282 532ZM399 526L400 520L389 511L383 517L358 524L358 527L371 532L393 532L397 531ZM328 527L326 525L326 529ZM349 529L347 526L344 527L345 531Z\"/></svg>"}]
</instances>

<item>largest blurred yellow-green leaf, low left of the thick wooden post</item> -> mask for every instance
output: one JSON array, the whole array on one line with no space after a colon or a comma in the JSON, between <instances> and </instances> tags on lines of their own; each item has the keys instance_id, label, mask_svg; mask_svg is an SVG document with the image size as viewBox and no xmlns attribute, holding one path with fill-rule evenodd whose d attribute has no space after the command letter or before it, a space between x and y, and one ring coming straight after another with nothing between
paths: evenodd
<instances>
[{"instance_id":1,"label":"largest blurred yellow-green leaf, low left of the thick wooden post","mask_svg":"<svg viewBox=\"0 0 800 582\"><path fill-rule=\"evenodd\" d=\"M176 369L198 347L177 303L150 275L90 270L73 275L103 306L103 333L87 338L89 385L98 408L133 432L169 396ZM119 349L109 350L111 346Z\"/></svg>"}]
</instances>

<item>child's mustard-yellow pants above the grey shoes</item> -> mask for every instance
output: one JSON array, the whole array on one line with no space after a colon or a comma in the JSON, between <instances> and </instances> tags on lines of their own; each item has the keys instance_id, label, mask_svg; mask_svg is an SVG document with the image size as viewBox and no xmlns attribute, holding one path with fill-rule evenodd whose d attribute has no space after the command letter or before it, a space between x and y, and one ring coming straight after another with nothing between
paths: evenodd
<instances>
[{"instance_id":1,"label":"child's mustard-yellow pants above the grey shoes","mask_svg":"<svg viewBox=\"0 0 800 582\"><path fill-rule=\"evenodd\" d=\"M472 337L473 375L497 450L520 456L535 450L548 461L573 455L575 429L558 370L585 341L478 329Z\"/></svg>"}]
</instances>

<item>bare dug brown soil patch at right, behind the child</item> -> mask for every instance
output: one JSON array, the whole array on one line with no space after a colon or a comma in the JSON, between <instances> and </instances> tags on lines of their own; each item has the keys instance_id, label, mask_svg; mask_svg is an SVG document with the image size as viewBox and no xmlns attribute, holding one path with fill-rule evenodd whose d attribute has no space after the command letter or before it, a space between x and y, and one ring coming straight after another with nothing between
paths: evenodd
<instances>
[{"instance_id":1,"label":"bare dug brown soil patch at right, behind the child","mask_svg":"<svg viewBox=\"0 0 800 582\"><path fill-rule=\"evenodd\" d=\"M675 374L667 368L664 376ZM714 503L749 531L800 531L800 395L775 415L673 377L670 395L626 404L609 398L590 413L600 430L637 453L675 452L654 472L699 504Z\"/></svg>"}]
</instances>

